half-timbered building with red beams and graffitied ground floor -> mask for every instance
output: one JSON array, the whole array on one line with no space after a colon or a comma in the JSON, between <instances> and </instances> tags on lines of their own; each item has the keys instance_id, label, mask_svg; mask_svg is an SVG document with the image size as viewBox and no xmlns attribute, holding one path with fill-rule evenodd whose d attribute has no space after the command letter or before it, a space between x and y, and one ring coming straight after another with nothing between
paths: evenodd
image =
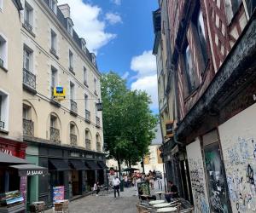
<instances>
[{"instance_id":1,"label":"half-timbered building with red beams and graffitied ground floor","mask_svg":"<svg viewBox=\"0 0 256 213\"><path fill-rule=\"evenodd\" d=\"M177 148L164 153L188 162L195 212L253 212L256 3L166 2Z\"/></svg>"}]
</instances>

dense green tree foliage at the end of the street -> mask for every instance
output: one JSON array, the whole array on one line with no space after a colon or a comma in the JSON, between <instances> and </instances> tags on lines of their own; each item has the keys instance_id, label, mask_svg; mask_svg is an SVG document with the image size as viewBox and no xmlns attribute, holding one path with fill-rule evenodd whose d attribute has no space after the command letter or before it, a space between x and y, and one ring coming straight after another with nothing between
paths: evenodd
<instances>
[{"instance_id":1,"label":"dense green tree foliage at the end of the street","mask_svg":"<svg viewBox=\"0 0 256 213\"><path fill-rule=\"evenodd\" d=\"M126 88L116 73L102 76L104 148L119 164L136 164L148 153L154 138L156 116L149 109L150 97Z\"/></svg>"}]
</instances>

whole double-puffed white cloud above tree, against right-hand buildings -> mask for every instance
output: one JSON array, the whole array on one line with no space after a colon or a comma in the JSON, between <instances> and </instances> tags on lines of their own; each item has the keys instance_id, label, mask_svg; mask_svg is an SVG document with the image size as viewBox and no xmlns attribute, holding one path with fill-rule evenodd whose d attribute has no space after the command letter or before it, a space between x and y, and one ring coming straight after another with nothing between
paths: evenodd
<instances>
[{"instance_id":1,"label":"whole double-puffed white cloud above tree, against right-hand buildings","mask_svg":"<svg viewBox=\"0 0 256 213\"><path fill-rule=\"evenodd\" d=\"M152 110L158 109L156 60L152 50L144 51L142 55L131 59L131 70L137 72L136 81L131 83L131 89L144 90L151 96Z\"/></svg>"}]
</instances>

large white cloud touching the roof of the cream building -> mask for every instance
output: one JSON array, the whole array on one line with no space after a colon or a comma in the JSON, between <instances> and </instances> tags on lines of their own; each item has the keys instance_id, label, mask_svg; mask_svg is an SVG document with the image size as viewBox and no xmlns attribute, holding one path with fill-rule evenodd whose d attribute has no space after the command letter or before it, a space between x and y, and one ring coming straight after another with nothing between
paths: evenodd
<instances>
[{"instance_id":1,"label":"large white cloud touching the roof of the cream building","mask_svg":"<svg viewBox=\"0 0 256 213\"><path fill-rule=\"evenodd\" d=\"M58 3L69 4L74 29L79 37L84 37L90 51L97 53L98 49L116 37L116 34L106 32L106 23L99 19L102 13L100 7L83 3L82 0L59 0Z\"/></svg>"}]
</instances>

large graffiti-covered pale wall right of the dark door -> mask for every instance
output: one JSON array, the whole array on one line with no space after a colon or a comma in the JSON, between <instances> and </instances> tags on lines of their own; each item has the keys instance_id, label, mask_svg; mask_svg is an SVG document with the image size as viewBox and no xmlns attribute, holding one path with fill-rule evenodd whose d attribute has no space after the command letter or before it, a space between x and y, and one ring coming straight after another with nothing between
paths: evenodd
<instances>
[{"instance_id":1,"label":"large graffiti-covered pale wall right of the dark door","mask_svg":"<svg viewBox=\"0 0 256 213\"><path fill-rule=\"evenodd\" d=\"M233 212L256 212L256 105L220 125Z\"/></svg>"}]
</instances>

